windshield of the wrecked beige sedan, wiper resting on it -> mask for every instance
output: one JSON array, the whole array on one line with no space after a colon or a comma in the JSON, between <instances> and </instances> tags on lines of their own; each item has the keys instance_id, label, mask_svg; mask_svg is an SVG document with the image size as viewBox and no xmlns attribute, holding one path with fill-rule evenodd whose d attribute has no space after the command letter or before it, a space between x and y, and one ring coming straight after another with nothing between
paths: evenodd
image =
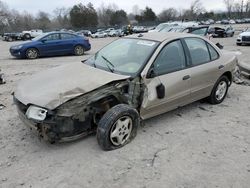
<instances>
[{"instance_id":1,"label":"windshield of the wrecked beige sedan, wiper resting on it","mask_svg":"<svg viewBox=\"0 0 250 188\"><path fill-rule=\"evenodd\" d=\"M134 76L158 44L159 42L150 40L118 39L101 49L85 63L110 72Z\"/></svg>"}]
</instances>

